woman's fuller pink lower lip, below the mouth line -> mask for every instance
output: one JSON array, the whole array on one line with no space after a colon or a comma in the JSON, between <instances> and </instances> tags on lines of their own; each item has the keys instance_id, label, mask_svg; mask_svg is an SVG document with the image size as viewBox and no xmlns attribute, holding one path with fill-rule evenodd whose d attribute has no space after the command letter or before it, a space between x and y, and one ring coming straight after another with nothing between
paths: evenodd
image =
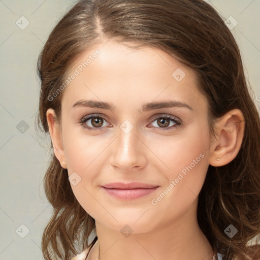
<instances>
[{"instance_id":1,"label":"woman's fuller pink lower lip, below the mouth line","mask_svg":"<svg viewBox=\"0 0 260 260\"><path fill-rule=\"evenodd\" d=\"M138 188L138 189L111 189L105 188L111 196L121 200L135 200L154 192L158 187L154 188Z\"/></svg>"}]
</instances>

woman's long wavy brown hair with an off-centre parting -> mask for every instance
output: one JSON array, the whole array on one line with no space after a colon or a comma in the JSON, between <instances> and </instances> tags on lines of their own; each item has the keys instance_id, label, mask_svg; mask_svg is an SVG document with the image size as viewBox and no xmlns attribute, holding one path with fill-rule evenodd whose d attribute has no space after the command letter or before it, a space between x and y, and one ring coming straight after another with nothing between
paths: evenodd
<instances>
[{"instance_id":1,"label":"woman's long wavy brown hair with an off-centre parting","mask_svg":"<svg viewBox=\"0 0 260 260\"><path fill-rule=\"evenodd\" d=\"M243 112L241 149L228 165L209 166L199 194L198 222L225 259L256 256L256 249L247 243L260 232L260 120L229 28L202 0L79 1L54 27L39 56L38 125L44 132L49 131L49 108L55 110L57 120L60 118L62 91L54 99L48 97L62 85L72 62L104 38L159 48L196 71L210 106L212 134L215 119L234 108ZM81 250L91 248L97 239L90 244L87 240L95 228L94 219L76 200L68 171L60 167L54 153L44 185L54 209L42 238L45 259L70 259L72 253L78 253L77 243ZM232 239L224 233L230 224L238 230Z\"/></svg>"}]
</instances>

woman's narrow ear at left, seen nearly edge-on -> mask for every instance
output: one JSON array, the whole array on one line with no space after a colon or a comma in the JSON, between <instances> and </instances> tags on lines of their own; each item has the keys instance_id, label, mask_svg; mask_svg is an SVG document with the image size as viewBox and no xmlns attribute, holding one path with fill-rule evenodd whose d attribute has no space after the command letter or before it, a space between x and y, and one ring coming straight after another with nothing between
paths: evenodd
<instances>
[{"instance_id":1,"label":"woman's narrow ear at left, seen nearly edge-on","mask_svg":"<svg viewBox=\"0 0 260 260\"><path fill-rule=\"evenodd\" d=\"M67 169L66 159L64 156L64 150L62 145L61 127L55 120L56 113L53 109L48 109L46 112L47 122L49 126L50 137L54 149L54 154L59 160L60 166Z\"/></svg>"}]
</instances>

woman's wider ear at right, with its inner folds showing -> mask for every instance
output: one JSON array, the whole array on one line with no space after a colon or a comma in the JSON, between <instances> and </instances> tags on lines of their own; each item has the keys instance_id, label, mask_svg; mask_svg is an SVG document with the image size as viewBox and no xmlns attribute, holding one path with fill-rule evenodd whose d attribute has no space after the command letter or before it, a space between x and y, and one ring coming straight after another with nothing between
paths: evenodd
<instances>
[{"instance_id":1,"label":"woman's wider ear at right, with its inner folds showing","mask_svg":"<svg viewBox=\"0 0 260 260\"><path fill-rule=\"evenodd\" d=\"M210 146L211 166L227 165L237 156L244 130L245 118L239 109L233 109L219 118L215 124L216 139L212 138Z\"/></svg>"}]
</instances>

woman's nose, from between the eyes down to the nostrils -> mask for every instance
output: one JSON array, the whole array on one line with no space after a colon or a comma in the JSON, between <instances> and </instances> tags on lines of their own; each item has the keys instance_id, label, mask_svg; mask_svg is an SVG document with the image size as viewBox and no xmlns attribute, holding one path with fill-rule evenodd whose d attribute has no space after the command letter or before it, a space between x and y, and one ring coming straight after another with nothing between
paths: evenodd
<instances>
[{"instance_id":1,"label":"woman's nose, from between the eyes down to the nostrils","mask_svg":"<svg viewBox=\"0 0 260 260\"><path fill-rule=\"evenodd\" d=\"M129 133L119 128L112 146L110 165L123 172L143 169L147 162L146 149L135 127Z\"/></svg>"}]
</instances>

